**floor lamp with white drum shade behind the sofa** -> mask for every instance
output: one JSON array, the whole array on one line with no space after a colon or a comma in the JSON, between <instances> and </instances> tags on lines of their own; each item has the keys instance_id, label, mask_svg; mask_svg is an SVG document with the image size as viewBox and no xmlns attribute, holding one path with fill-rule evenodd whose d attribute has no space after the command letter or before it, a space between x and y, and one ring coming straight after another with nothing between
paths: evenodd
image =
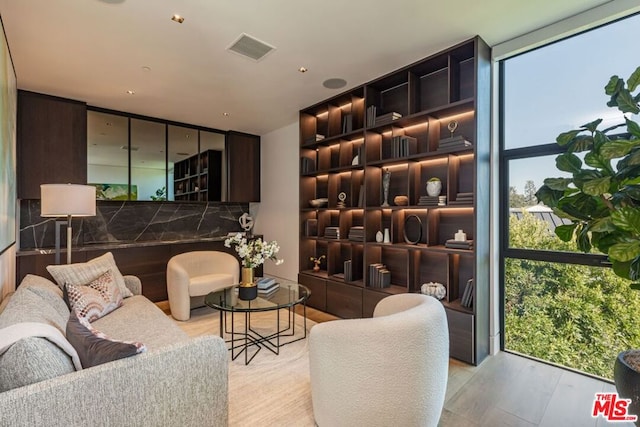
<instances>
[{"instance_id":1,"label":"floor lamp with white drum shade behind the sofa","mask_svg":"<svg viewBox=\"0 0 640 427\"><path fill-rule=\"evenodd\" d=\"M71 264L71 218L96 215L96 188L78 184L42 184L40 216L67 217L67 264ZM56 264L60 264L60 224L56 221Z\"/></svg>"}]
</instances>

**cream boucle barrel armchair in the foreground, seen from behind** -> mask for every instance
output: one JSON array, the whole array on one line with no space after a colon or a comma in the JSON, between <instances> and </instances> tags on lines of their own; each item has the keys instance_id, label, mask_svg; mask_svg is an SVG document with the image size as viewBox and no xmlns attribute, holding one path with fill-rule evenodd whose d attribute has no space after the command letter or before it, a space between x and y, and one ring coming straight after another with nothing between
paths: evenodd
<instances>
[{"instance_id":1,"label":"cream boucle barrel armchair in the foreground, seen from behind","mask_svg":"<svg viewBox=\"0 0 640 427\"><path fill-rule=\"evenodd\" d=\"M319 427L438 425L447 389L449 331L435 298L386 297L373 318L317 324L309 341Z\"/></svg>"}]
</instances>

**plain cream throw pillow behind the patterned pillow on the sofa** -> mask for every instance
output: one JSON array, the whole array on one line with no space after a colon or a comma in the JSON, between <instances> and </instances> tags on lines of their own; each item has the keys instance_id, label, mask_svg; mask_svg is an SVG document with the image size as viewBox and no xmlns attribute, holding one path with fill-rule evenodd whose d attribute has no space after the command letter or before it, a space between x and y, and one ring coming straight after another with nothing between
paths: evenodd
<instances>
[{"instance_id":1,"label":"plain cream throw pillow behind the patterned pillow on the sofa","mask_svg":"<svg viewBox=\"0 0 640 427\"><path fill-rule=\"evenodd\" d=\"M47 266L47 271L58 283L60 288L64 288L65 284L75 286L85 285L104 274L107 270L112 271L113 278L120 289L122 298L132 296L133 294L125 285L124 277L122 273L120 273L120 270L118 270L118 266L116 266L116 261L113 259L111 252L107 252L87 262Z\"/></svg>"}]
</instances>

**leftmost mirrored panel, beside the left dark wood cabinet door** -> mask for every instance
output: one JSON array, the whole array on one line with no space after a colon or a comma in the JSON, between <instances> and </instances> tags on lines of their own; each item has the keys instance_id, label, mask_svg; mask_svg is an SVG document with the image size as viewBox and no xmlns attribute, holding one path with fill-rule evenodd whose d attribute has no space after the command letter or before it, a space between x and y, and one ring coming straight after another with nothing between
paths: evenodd
<instances>
[{"instance_id":1,"label":"leftmost mirrored panel, beside the left dark wood cabinet door","mask_svg":"<svg viewBox=\"0 0 640 427\"><path fill-rule=\"evenodd\" d=\"M87 182L98 200L127 200L129 184L128 119L87 112Z\"/></svg>"}]
</instances>

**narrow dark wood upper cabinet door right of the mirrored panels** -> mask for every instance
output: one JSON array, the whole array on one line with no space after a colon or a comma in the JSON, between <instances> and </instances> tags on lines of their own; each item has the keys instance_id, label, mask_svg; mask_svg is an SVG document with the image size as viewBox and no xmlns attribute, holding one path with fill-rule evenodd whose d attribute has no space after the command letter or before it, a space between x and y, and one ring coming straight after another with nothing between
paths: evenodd
<instances>
[{"instance_id":1,"label":"narrow dark wood upper cabinet door right of the mirrored panels","mask_svg":"<svg viewBox=\"0 0 640 427\"><path fill-rule=\"evenodd\" d=\"M227 201L260 201L260 137L239 132L228 132Z\"/></svg>"}]
</instances>

